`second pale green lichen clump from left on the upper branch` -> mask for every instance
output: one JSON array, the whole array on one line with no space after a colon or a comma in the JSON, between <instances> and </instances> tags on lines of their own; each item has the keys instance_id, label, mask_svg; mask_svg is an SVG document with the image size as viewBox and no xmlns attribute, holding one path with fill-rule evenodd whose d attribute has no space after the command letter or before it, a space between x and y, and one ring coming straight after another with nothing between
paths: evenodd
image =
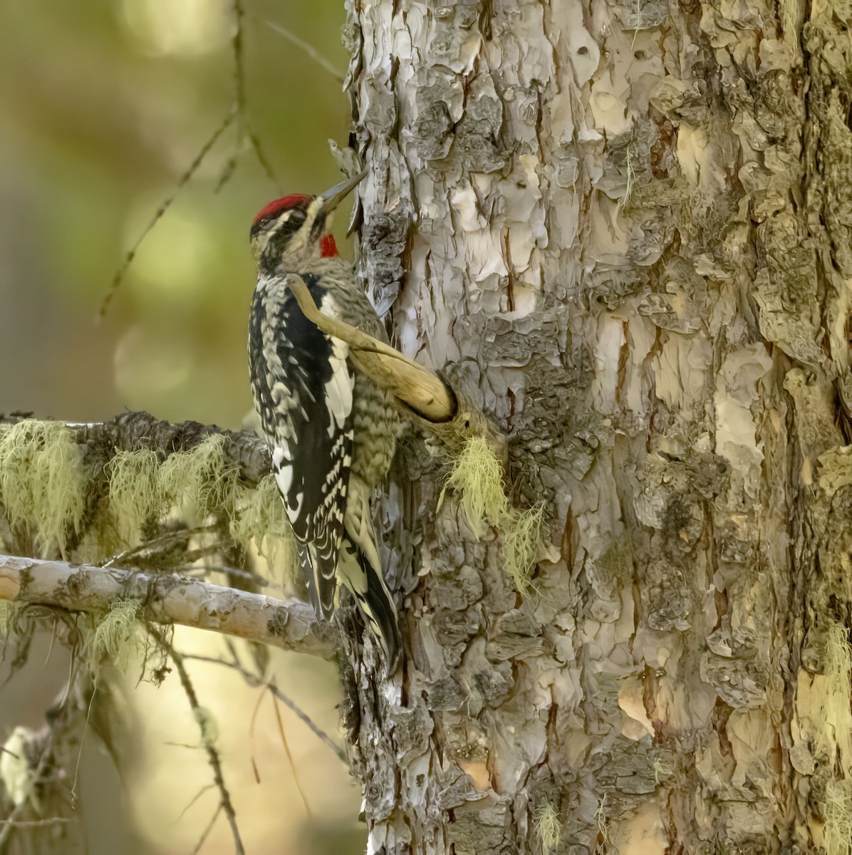
<instances>
[{"instance_id":1,"label":"second pale green lichen clump from left on the upper branch","mask_svg":"<svg viewBox=\"0 0 852 855\"><path fill-rule=\"evenodd\" d=\"M159 478L160 458L156 451L146 449L116 451L105 471L116 527L121 539L132 543L143 522L166 510Z\"/></svg>"}]
</instances>

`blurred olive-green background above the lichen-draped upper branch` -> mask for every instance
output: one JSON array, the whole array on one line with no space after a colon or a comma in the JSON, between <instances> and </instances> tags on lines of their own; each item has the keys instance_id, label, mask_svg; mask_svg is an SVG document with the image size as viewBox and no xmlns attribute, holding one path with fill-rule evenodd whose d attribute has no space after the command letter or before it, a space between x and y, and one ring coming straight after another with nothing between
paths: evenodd
<instances>
[{"instance_id":1,"label":"blurred olive-green background above the lichen-draped upper branch","mask_svg":"<svg viewBox=\"0 0 852 855\"><path fill-rule=\"evenodd\" d=\"M139 248L101 324L117 268L231 109L230 0L6 0L0 5L0 411L95 420L124 407L238 426L253 215L282 192L339 179L345 144L341 0L244 0L248 120L238 123ZM216 190L232 156L230 180Z\"/></svg>"}]
</instances>

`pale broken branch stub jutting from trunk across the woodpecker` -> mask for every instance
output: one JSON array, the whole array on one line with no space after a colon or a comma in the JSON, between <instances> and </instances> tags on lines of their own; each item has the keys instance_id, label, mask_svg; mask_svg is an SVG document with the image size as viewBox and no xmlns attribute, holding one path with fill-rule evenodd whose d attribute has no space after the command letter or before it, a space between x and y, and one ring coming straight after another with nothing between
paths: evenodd
<instances>
[{"instance_id":1,"label":"pale broken branch stub jutting from trunk across the woodpecker","mask_svg":"<svg viewBox=\"0 0 852 855\"><path fill-rule=\"evenodd\" d=\"M300 276L291 274L287 285L308 321L323 333L350 345L349 355L355 366L378 386L392 392L400 409L420 428L440 439L450 451L471 436L484 436L505 471L506 438L466 395L451 388L437 374L403 357L391 345L373 339L345 321L323 315Z\"/></svg>"}]
</instances>

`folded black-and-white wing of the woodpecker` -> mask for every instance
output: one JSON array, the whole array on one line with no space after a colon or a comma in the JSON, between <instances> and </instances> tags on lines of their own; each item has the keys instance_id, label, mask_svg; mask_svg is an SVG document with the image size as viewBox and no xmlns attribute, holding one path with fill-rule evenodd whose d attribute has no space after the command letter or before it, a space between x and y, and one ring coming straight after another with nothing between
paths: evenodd
<instances>
[{"instance_id":1,"label":"folded black-and-white wing of the woodpecker","mask_svg":"<svg viewBox=\"0 0 852 855\"><path fill-rule=\"evenodd\" d=\"M335 569L344 533L352 459L349 345L308 321L287 286L295 274L258 285L249 325L255 406L272 451L273 471L318 614L334 610ZM303 276L326 315L339 315L332 295Z\"/></svg>"}]
</instances>

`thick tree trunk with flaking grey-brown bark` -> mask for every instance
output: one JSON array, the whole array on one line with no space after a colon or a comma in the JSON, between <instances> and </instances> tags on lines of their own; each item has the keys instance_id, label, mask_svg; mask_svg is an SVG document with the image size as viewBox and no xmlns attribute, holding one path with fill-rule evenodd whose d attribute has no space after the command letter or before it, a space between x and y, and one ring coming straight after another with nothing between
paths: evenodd
<instances>
[{"instance_id":1,"label":"thick tree trunk with flaking grey-brown bark","mask_svg":"<svg viewBox=\"0 0 852 855\"><path fill-rule=\"evenodd\" d=\"M850 17L350 0L365 281L547 503L521 596L409 455L368 852L850 852Z\"/></svg>"}]
</instances>

